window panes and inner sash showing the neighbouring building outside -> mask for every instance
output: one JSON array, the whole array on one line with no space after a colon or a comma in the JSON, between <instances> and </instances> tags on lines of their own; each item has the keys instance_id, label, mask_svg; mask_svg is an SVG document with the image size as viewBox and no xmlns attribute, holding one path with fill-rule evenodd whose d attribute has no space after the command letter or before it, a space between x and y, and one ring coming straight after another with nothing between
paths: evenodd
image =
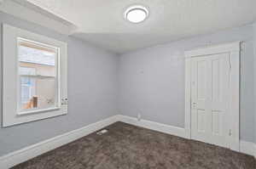
<instances>
[{"instance_id":1,"label":"window panes and inner sash showing the neighbouring building outside","mask_svg":"<svg viewBox=\"0 0 256 169\"><path fill-rule=\"evenodd\" d=\"M20 111L58 106L58 50L47 45L18 40Z\"/></svg>"}]
</instances>

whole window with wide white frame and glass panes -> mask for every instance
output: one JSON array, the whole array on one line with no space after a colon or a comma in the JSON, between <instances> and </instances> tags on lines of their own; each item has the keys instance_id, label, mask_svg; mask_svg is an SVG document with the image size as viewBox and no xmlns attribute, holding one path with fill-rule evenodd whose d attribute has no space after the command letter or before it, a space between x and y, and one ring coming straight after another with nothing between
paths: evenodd
<instances>
[{"instance_id":1,"label":"whole window with wide white frame and glass panes","mask_svg":"<svg viewBox=\"0 0 256 169\"><path fill-rule=\"evenodd\" d=\"M3 127L67 114L67 43L3 25Z\"/></svg>"}]
</instances>

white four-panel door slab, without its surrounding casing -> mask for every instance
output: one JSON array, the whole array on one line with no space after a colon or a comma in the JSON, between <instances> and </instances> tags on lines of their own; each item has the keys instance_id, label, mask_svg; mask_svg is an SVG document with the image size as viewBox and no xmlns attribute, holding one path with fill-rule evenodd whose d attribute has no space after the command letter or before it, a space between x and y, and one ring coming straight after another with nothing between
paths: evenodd
<instances>
[{"instance_id":1,"label":"white four-panel door slab, without its surrounding casing","mask_svg":"<svg viewBox=\"0 0 256 169\"><path fill-rule=\"evenodd\" d=\"M228 148L230 54L191 61L191 138Z\"/></svg>"}]
</instances>

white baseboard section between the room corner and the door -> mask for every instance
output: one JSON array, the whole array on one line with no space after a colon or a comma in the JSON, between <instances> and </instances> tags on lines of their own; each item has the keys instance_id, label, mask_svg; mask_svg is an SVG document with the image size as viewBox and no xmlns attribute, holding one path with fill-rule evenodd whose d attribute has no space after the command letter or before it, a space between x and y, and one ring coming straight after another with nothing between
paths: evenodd
<instances>
[{"instance_id":1,"label":"white baseboard section between the room corner and the door","mask_svg":"<svg viewBox=\"0 0 256 169\"><path fill-rule=\"evenodd\" d=\"M173 127L166 124L147 120L137 121L137 118L126 115L118 115L118 120L137 127L144 127L157 132L164 132L177 137L188 138L185 129L182 127Z\"/></svg>"}]
</instances>

